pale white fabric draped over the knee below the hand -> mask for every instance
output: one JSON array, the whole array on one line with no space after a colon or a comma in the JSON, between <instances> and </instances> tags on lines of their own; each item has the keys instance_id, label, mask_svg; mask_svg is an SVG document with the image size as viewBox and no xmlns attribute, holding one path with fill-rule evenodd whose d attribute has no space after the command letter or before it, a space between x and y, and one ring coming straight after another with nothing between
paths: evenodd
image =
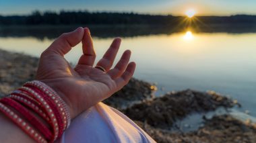
<instances>
[{"instance_id":1,"label":"pale white fabric draped over the knee below the hand","mask_svg":"<svg viewBox=\"0 0 256 143\"><path fill-rule=\"evenodd\" d=\"M98 103L76 117L58 143L155 142L123 113Z\"/></svg>"}]
</instances>

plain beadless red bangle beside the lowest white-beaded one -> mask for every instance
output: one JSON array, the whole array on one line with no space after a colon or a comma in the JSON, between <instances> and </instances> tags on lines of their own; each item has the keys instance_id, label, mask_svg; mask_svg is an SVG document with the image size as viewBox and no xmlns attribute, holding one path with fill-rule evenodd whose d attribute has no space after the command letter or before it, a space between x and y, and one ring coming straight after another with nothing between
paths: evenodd
<instances>
[{"instance_id":1,"label":"plain beadless red bangle beside the lowest white-beaded one","mask_svg":"<svg viewBox=\"0 0 256 143\"><path fill-rule=\"evenodd\" d=\"M51 140L52 133L40 120L38 120L37 117L35 117L34 114L30 113L26 107L23 107L20 105L20 103L14 101L11 98L3 98L0 101L1 103L4 103L5 105L9 105L13 107L13 109L17 110L19 113L21 113L28 122L34 126L36 129L39 130L39 132L46 138L46 140Z\"/></svg>"}]
</instances>

